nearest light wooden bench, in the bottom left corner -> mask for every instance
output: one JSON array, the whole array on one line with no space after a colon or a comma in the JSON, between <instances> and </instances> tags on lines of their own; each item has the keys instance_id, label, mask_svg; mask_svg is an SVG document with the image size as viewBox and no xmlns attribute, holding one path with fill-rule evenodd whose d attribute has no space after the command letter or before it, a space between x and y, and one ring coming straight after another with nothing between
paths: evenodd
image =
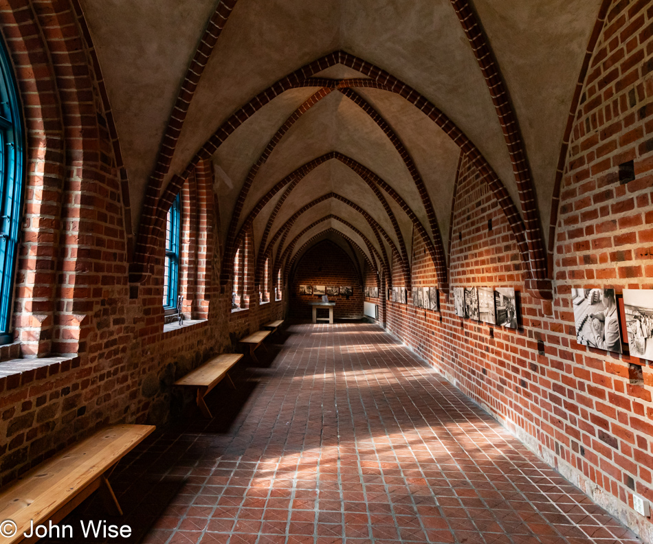
<instances>
[{"instance_id":1,"label":"nearest light wooden bench, in the bottom left corner","mask_svg":"<svg viewBox=\"0 0 653 544\"><path fill-rule=\"evenodd\" d=\"M107 479L115 465L154 431L152 425L119 424L105 427L25 473L0 492L0 522L12 520L16 532L2 544L35 542L34 527L64 519L93 491L100 490L105 506L122 515ZM6 528L5 528L6 530Z\"/></svg>"}]
</instances>

